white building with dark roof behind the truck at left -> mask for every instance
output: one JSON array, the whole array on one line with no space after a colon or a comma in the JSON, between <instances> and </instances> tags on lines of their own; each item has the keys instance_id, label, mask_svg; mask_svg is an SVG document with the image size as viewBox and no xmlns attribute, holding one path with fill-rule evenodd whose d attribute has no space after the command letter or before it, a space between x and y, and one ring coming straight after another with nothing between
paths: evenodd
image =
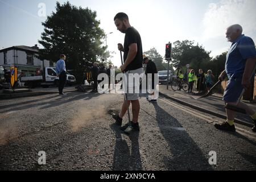
<instances>
[{"instance_id":1,"label":"white building with dark roof behind the truck at left","mask_svg":"<svg viewBox=\"0 0 256 182\"><path fill-rule=\"evenodd\" d=\"M44 67L53 66L53 62L49 60L38 59L38 45L13 46L0 50L0 66L10 69L10 66L18 67L18 76L23 72L24 76L34 76L36 71Z\"/></svg>"}]
</instances>

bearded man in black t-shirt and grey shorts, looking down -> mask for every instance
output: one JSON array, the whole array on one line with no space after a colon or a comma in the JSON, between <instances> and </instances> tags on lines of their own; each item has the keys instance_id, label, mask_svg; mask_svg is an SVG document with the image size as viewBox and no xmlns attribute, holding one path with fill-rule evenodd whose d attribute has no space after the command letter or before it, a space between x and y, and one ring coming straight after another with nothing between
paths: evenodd
<instances>
[{"instance_id":1,"label":"bearded man in black t-shirt and grey shorts, looking down","mask_svg":"<svg viewBox=\"0 0 256 182\"><path fill-rule=\"evenodd\" d=\"M139 117L139 93L135 93L135 90L139 87L139 82L133 82L133 80L128 79L129 74L138 73L139 75L143 75L143 68L142 68L142 61L143 61L143 55L142 55L142 43L141 43L141 36L139 35L139 32L134 28L131 27L129 23L129 18L125 13L118 13L114 17L114 23L117 27L117 30L121 31L123 34L125 34L125 43L118 44L118 50L124 52L123 53L123 60L124 63L121 65L121 72L125 72L125 80L127 80L127 90L129 90L130 85L134 85L134 92L130 93L127 92L127 102L128 105L132 105L132 111L133 111L133 121L131 123L127 123L123 127L121 127L121 130L123 130L125 133L130 134L131 131L137 130L139 131L139 123L138 123L138 117ZM133 83L132 83L133 82ZM114 114L113 118L115 119L115 123L117 125L122 125L122 118L123 115L125 115L128 107L126 104L126 101L123 101L122 110L118 115Z\"/></svg>"}]
</instances>

